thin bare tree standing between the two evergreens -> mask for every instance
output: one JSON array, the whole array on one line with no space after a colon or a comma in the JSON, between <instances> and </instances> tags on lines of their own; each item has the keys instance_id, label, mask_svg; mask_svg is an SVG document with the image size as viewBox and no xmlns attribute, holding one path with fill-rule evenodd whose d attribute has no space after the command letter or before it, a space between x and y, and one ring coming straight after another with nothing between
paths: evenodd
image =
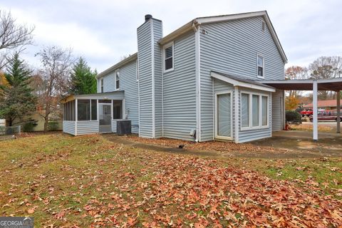
<instances>
[{"instance_id":1,"label":"thin bare tree standing between the two evergreens","mask_svg":"<svg viewBox=\"0 0 342 228\"><path fill-rule=\"evenodd\" d=\"M48 130L51 115L61 115L59 100L68 92L68 79L74 58L71 49L48 46L36 54L41 58L42 68L36 74L39 114L44 119L44 131Z\"/></svg>"}]
</instances>

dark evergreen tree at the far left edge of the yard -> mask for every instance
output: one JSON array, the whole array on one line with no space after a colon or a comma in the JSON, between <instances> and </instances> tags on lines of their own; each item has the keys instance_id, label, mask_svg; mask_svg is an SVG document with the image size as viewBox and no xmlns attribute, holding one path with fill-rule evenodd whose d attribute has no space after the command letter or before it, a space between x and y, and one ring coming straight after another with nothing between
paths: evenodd
<instances>
[{"instance_id":1,"label":"dark evergreen tree at the far left edge of the yard","mask_svg":"<svg viewBox=\"0 0 342 228\"><path fill-rule=\"evenodd\" d=\"M36 110L37 98L30 88L31 71L15 53L5 73L7 83L0 85L0 117L11 126Z\"/></svg>"}]
</instances>

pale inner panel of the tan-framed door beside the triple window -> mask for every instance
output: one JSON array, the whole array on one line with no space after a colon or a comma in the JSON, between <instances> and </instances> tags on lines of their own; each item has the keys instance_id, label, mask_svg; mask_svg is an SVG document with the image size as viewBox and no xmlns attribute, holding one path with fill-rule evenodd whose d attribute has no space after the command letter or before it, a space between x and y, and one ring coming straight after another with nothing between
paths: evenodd
<instances>
[{"instance_id":1,"label":"pale inner panel of the tan-framed door beside the triple window","mask_svg":"<svg viewBox=\"0 0 342 228\"><path fill-rule=\"evenodd\" d=\"M232 134L230 93L217 95L217 135L230 137Z\"/></svg>"}]
</instances>

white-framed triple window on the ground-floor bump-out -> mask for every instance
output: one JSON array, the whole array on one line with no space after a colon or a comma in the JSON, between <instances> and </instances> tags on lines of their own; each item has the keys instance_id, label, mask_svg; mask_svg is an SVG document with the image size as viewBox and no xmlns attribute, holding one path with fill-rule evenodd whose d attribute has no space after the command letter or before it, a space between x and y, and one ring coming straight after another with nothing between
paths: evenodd
<instances>
[{"instance_id":1,"label":"white-framed triple window on the ground-floor bump-out","mask_svg":"<svg viewBox=\"0 0 342 228\"><path fill-rule=\"evenodd\" d=\"M242 130L269 127L269 96L255 93L241 93Z\"/></svg>"}]
</instances>

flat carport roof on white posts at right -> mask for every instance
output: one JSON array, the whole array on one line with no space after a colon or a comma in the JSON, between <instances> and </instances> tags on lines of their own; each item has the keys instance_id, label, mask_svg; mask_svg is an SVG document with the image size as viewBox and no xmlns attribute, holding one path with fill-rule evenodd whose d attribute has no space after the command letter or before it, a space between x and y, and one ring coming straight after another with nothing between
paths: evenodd
<instances>
[{"instance_id":1,"label":"flat carport roof on white posts at right","mask_svg":"<svg viewBox=\"0 0 342 228\"><path fill-rule=\"evenodd\" d=\"M261 80L263 83L281 90L313 90L314 79L304 80ZM342 78L317 79L318 90L342 90Z\"/></svg>"}]
</instances>

